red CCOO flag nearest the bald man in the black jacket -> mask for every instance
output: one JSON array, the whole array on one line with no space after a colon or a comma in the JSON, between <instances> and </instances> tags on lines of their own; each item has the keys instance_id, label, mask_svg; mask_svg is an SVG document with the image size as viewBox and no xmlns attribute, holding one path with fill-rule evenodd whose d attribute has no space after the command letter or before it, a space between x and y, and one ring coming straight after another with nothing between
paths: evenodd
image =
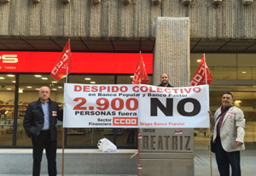
<instances>
[{"instance_id":1,"label":"red CCOO flag nearest the bald man in the black jacket","mask_svg":"<svg viewBox=\"0 0 256 176\"><path fill-rule=\"evenodd\" d=\"M58 82L67 73L67 66L68 66L68 73L72 71L71 67L71 50L70 50L70 40L67 42L66 46L63 48L61 56L57 61L54 69L51 71L50 76L55 78Z\"/></svg>"}]
</instances>

